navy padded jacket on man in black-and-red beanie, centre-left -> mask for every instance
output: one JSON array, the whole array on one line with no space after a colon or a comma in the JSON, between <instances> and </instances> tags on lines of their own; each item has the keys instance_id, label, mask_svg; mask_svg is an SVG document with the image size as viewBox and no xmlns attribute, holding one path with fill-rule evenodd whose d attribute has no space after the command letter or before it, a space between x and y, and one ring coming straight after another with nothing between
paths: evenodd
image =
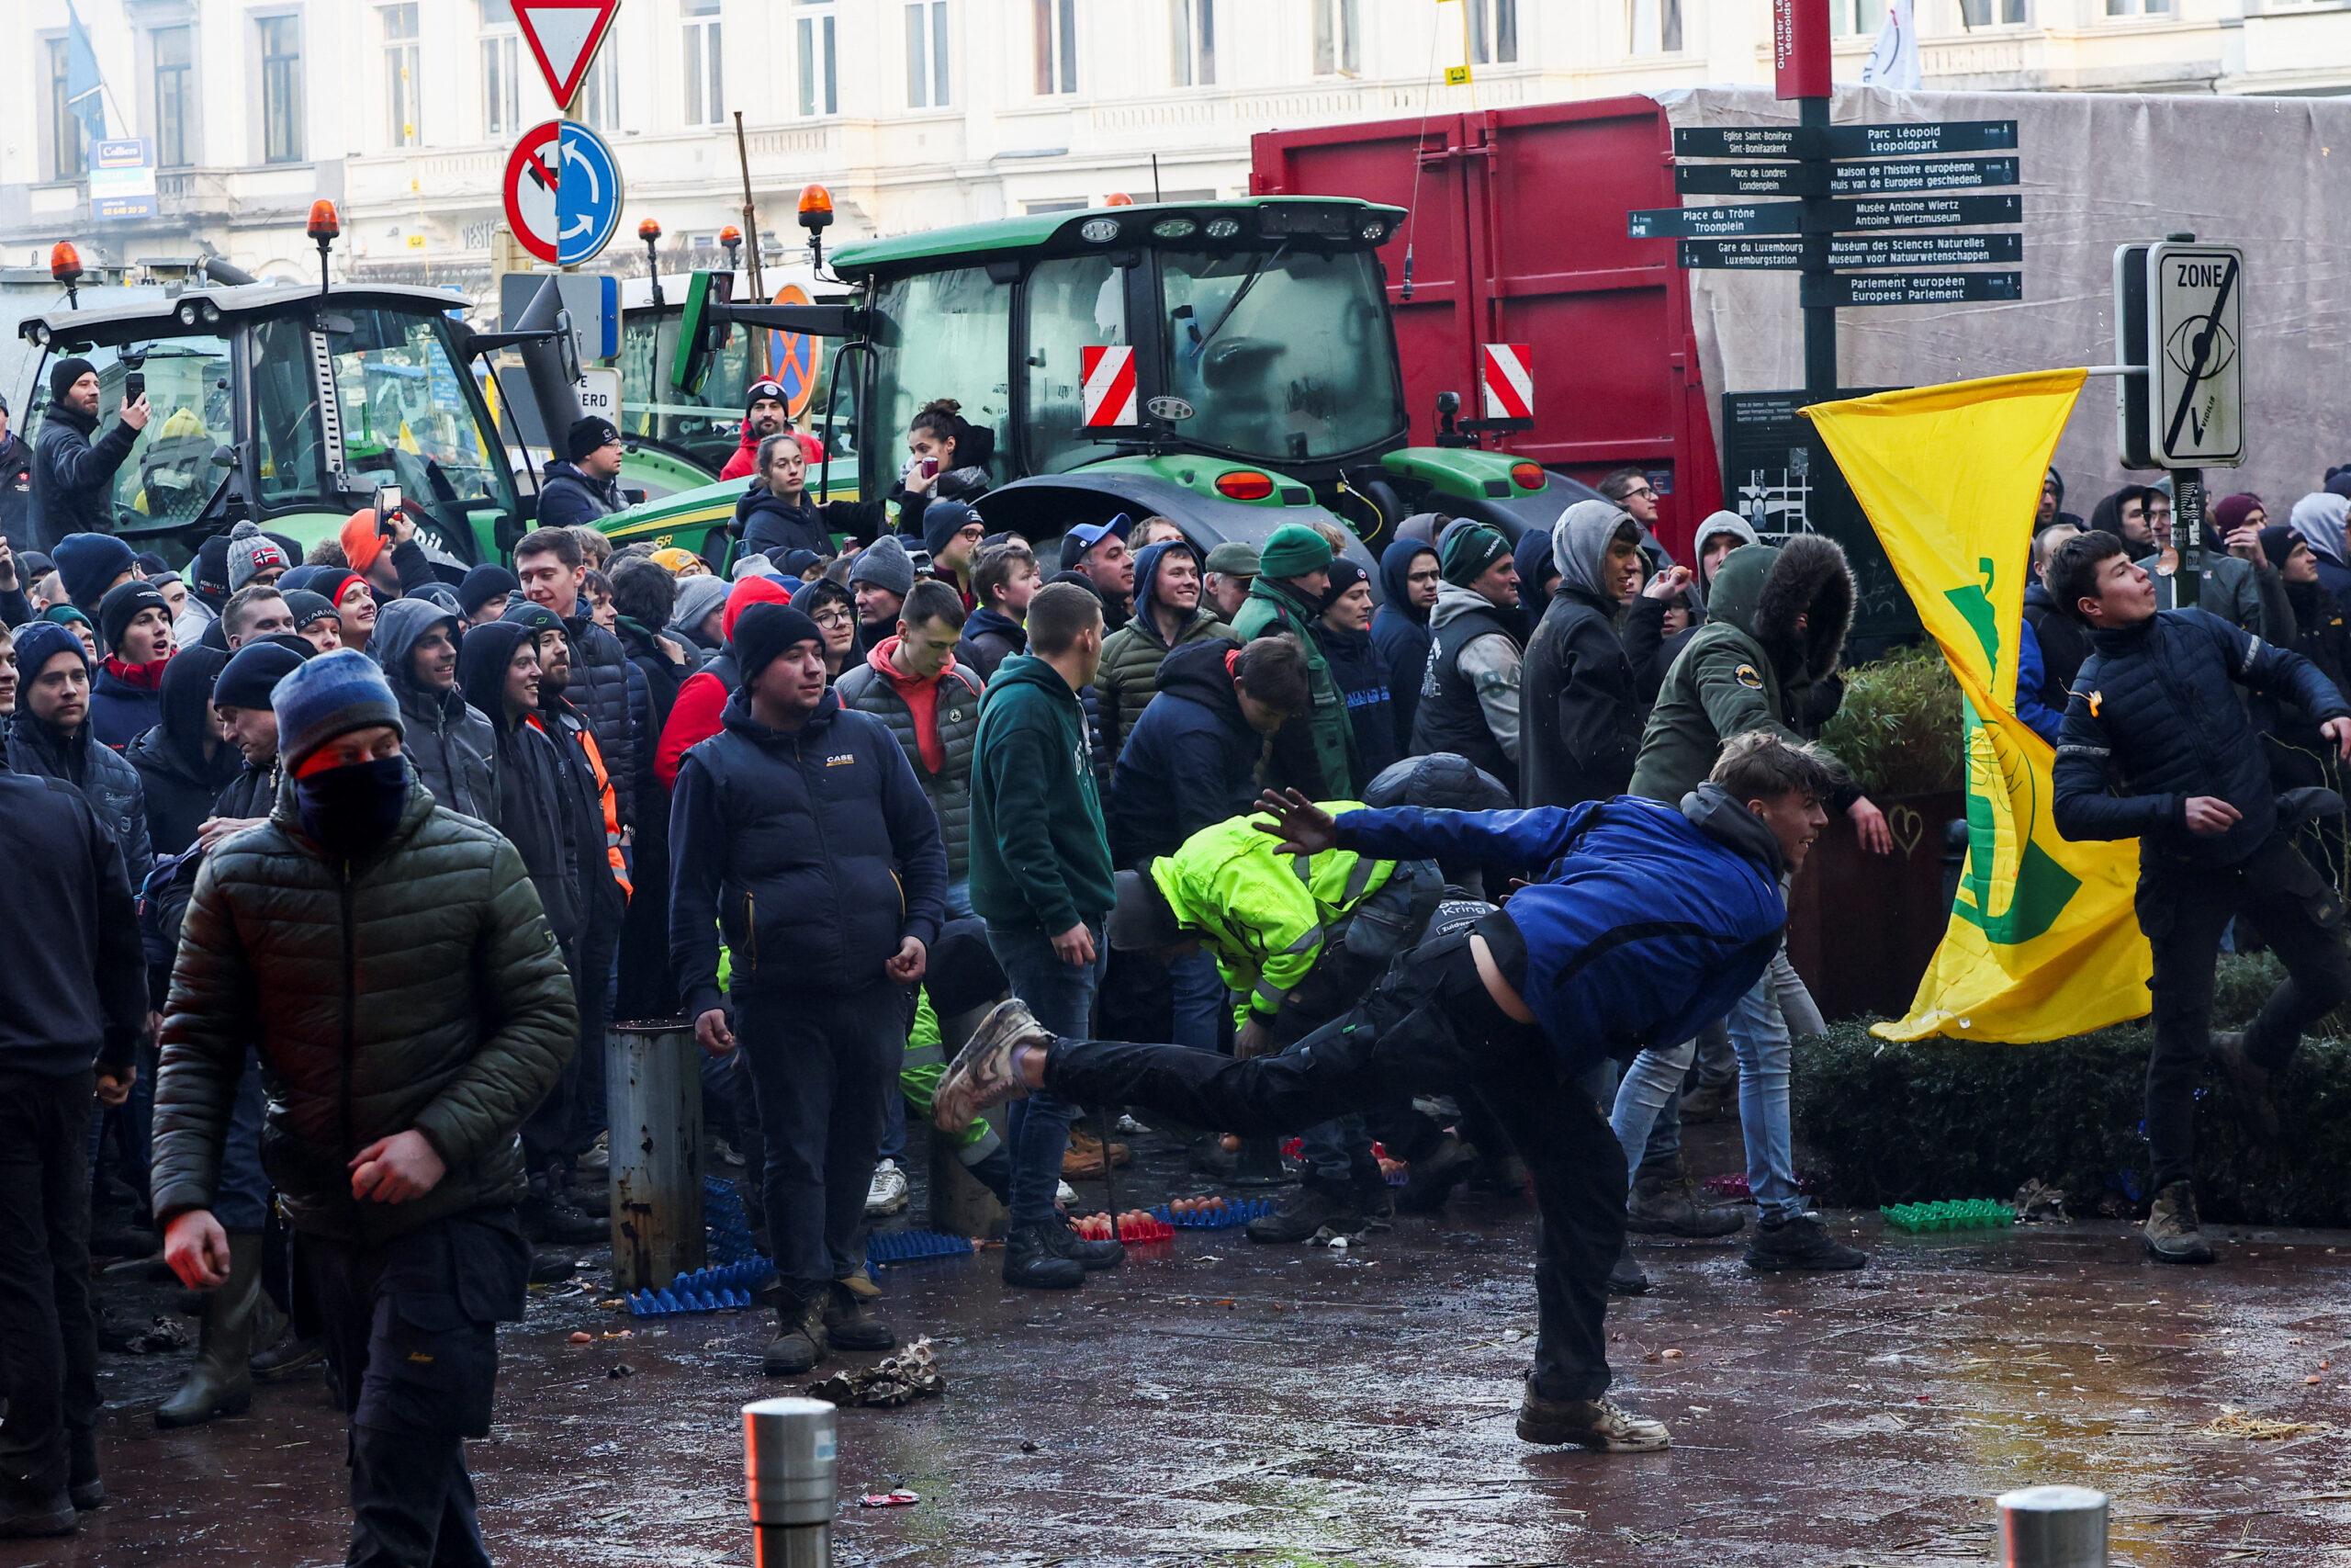
<instances>
[{"instance_id":1,"label":"navy padded jacket on man in black-and-red beanie, centre-left","mask_svg":"<svg viewBox=\"0 0 2351 1568\"><path fill-rule=\"evenodd\" d=\"M945 917L938 816L889 726L825 691L783 733L736 691L670 802L670 964L686 1016L719 1004L722 931L738 994L856 994L886 983L903 938L938 940Z\"/></svg>"}]
</instances>

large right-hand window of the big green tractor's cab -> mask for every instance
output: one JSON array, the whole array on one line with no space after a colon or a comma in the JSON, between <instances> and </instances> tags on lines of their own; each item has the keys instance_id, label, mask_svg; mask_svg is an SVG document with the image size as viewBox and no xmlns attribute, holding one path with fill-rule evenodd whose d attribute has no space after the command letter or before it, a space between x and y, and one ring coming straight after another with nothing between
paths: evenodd
<instances>
[{"instance_id":1,"label":"large right-hand window of the big green tractor's cab","mask_svg":"<svg viewBox=\"0 0 2351 1568\"><path fill-rule=\"evenodd\" d=\"M1161 252L1168 393L1187 442L1265 463L1401 435L1404 390L1371 252Z\"/></svg>"}]
</instances>

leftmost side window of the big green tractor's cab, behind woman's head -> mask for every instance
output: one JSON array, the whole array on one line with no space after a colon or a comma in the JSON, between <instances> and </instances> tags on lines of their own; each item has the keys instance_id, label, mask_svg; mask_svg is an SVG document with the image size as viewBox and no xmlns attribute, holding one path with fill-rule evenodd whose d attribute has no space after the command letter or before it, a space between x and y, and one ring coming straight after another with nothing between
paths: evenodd
<instances>
[{"instance_id":1,"label":"leftmost side window of the big green tractor's cab, behind woman's head","mask_svg":"<svg viewBox=\"0 0 2351 1568\"><path fill-rule=\"evenodd\" d=\"M917 273L882 284L875 299L875 418L872 454L889 480L903 477L910 458L905 428L922 404L955 397L973 425L994 435L997 461L990 482L1009 477L1011 433L1011 329L1013 292L983 268ZM886 484L884 484L886 489Z\"/></svg>"}]
</instances>

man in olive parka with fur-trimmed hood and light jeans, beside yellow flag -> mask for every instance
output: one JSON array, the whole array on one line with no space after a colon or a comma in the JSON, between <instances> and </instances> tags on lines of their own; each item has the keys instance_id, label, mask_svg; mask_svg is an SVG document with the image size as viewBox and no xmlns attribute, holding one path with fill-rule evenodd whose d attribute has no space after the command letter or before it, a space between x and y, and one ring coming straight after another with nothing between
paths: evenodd
<instances>
[{"instance_id":1,"label":"man in olive parka with fur-trimmed hood and light jeans, beside yellow flag","mask_svg":"<svg viewBox=\"0 0 2351 1568\"><path fill-rule=\"evenodd\" d=\"M1681 804L1707 780L1723 743L1749 731L1801 741L1836 710L1836 665L1853 625L1853 571L1836 541L1796 534L1784 545L1740 545L1707 590L1707 625L1674 661L1641 736L1632 792ZM1886 816L1857 788L1827 802L1871 853L1893 849ZM1782 973L1784 971L1784 973ZM1857 1269L1864 1253L1834 1241L1796 1194L1789 1140L1789 1025L1777 985L1794 980L1782 943L1773 966L1730 1009L1740 1060L1740 1131L1756 1197L1747 1267ZM1733 1213L1707 1211L1681 1173L1681 1079L1695 1041L1646 1048L1625 1070L1610 1117L1634 1168L1627 1225L1643 1232L1726 1234ZM1646 1288L1629 1255L1613 1288Z\"/></svg>"}]
</instances>

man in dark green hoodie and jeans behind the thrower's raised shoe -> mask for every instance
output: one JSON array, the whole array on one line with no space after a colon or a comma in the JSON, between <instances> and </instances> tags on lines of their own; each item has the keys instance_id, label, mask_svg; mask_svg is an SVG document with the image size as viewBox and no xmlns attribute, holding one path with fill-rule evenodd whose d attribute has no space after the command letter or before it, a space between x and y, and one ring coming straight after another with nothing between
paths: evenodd
<instances>
[{"instance_id":1,"label":"man in dark green hoodie and jeans behind the thrower's raised shoe","mask_svg":"<svg viewBox=\"0 0 2351 1568\"><path fill-rule=\"evenodd\" d=\"M1020 1001L1081 1034L1103 983L1110 830L1093 780L1079 691L1103 663L1103 597L1046 583L1027 607L1027 654L997 665L971 748L971 910ZM1053 1208L1077 1107L1032 1095L1006 1121L1011 1229L1004 1284L1072 1291L1119 1262L1117 1241L1081 1241Z\"/></svg>"}]
</instances>

